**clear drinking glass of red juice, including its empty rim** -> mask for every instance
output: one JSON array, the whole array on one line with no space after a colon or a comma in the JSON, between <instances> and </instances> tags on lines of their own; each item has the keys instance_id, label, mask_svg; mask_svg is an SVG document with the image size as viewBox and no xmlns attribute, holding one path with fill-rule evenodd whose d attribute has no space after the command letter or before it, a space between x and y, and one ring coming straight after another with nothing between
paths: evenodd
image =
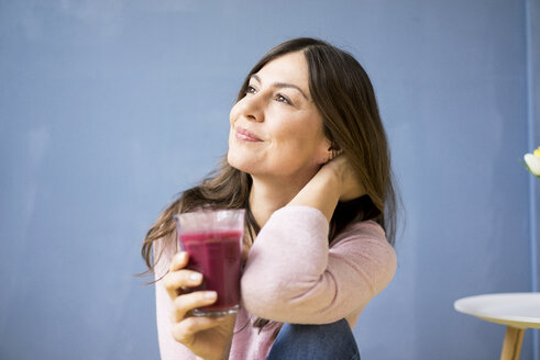
<instances>
[{"instance_id":1,"label":"clear drinking glass of red juice, including its empty rim","mask_svg":"<svg viewBox=\"0 0 540 360\"><path fill-rule=\"evenodd\" d=\"M202 283L191 291L218 293L216 303L194 310L194 316L222 316L239 311L244 214L242 209L174 216L180 247L189 254L187 269L202 273Z\"/></svg>"}]
</instances>

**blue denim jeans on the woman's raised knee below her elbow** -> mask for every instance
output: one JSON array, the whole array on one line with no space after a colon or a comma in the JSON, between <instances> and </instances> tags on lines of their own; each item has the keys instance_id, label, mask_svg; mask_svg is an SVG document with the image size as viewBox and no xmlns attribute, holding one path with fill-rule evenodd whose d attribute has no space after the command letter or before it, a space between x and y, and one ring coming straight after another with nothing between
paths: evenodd
<instances>
[{"instance_id":1,"label":"blue denim jeans on the woman's raised knee below her elbow","mask_svg":"<svg viewBox=\"0 0 540 360\"><path fill-rule=\"evenodd\" d=\"M360 360L345 319L324 325L284 324L266 360Z\"/></svg>"}]
</instances>

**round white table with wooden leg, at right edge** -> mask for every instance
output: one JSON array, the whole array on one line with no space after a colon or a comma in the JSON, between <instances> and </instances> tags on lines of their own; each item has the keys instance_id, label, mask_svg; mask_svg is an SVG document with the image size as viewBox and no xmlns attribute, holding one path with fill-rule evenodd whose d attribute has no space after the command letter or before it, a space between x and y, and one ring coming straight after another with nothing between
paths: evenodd
<instances>
[{"instance_id":1,"label":"round white table with wooden leg, at right edge","mask_svg":"<svg viewBox=\"0 0 540 360\"><path fill-rule=\"evenodd\" d=\"M540 293L503 293L463 297L454 302L461 313L506 325L500 360L518 360L525 330L540 328Z\"/></svg>"}]
</instances>

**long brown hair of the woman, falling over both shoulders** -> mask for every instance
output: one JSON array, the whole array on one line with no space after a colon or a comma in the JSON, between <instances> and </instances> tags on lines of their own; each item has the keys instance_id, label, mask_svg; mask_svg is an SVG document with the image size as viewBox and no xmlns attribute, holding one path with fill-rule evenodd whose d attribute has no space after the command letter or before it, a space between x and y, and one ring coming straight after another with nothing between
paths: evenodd
<instances>
[{"instance_id":1,"label":"long brown hair of the woman, falling over both shoulders","mask_svg":"<svg viewBox=\"0 0 540 360\"><path fill-rule=\"evenodd\" d=\"M366 190L362 198L340 202L330 222L329 241L348 224L372 220L386 232L390 245L396 235L396 196L390 155L375 93L362 66L352 55L323 41L299 37L277 45L264 55L246 76L236 101L246 93L250 77L268 61L285 54L302 52L309 69L309 91L323 119L324 134L353 165ZM198 207L246 209L252 241L260 230L249 204L251 177L232 168L227 158L202 182L180 194L150 228L142 247L148 270L154 267L152 244L159 238L175 240L173 215ZM174 246L174 244L169 244ZM159 255L154 255L159 258ZM257 319L262 327L267 320Z\"/></svg>"}]
</instances>

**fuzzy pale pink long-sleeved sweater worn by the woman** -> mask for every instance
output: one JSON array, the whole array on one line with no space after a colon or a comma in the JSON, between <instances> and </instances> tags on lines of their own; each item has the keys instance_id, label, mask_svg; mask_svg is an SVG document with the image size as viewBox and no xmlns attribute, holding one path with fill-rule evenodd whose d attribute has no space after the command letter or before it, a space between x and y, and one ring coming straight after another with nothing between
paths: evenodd
<instances>
[{"instance_id":1,"label":"fuzzy pale pink long-sleeved sweater worn by the woman","mask_svg":"<svg viewBox=\"0 0 540 360\"><path fill-rule=\"evenodd\" d=\"M327 324L346 318L351 328L364 306L390 282L396 255L375 222L346 227L328 245L324 215L308 206L285 206L261 229L242 274L242 305L230 359L265 359L273 326L258 333L257 317L282 323ZM157 244L156 244L157 243ZM155 252L161 246L156 241ZM176 249L164 249L156 279ZM157 330L163 360L196 357L170 335L172 302L156 283Z\"/></svg>"}]
</instances>

